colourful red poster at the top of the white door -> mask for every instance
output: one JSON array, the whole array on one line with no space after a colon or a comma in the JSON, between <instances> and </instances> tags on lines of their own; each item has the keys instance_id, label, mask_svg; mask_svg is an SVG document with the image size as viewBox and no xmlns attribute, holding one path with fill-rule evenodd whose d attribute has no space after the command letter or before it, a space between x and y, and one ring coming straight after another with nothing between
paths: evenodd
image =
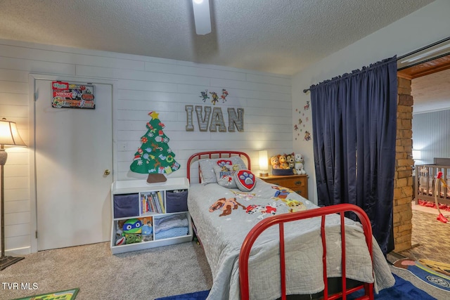
<instances>
[{"instance_id":1,"label":"colourful red poster at the top of the white door","mask_svg":"<svg viewBox=\"0 0 450 300\"><path fill-rule=\"evenodd\" d=\"M94 86L52 81L53 100L51 106L61 108L96 108Z\"/></svg>"}]
</instances>

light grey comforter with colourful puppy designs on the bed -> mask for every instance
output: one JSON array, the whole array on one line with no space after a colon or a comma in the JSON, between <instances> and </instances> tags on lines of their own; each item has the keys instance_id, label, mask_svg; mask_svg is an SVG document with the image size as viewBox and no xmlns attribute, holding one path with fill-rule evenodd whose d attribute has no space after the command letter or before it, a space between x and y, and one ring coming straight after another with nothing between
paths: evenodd
<instances>
[{"instance_id":1,"label":"light grey comforter with colourful puppy designs on the bed","mask_svg":"<svg viewBox=\"0 0 450 300\"><path fill-rule=\"evenodd\" d=\"M273 214L315 209L317 206L292 190L257 178L247 193L217 183L191 184L188 210L197 228L213 276L208 299L239 299L238 256L250 229ZM346 223L347 278L374 282L375 292L394 285L387 261L373 239L372 273L361 225ZM320 217L285 224L286 282L288 294L313 294L323 290ZM340 218L326 217L327 274L340 277ZM266 230L250 253L250 299L281 296L278 226Z\"/></svg>"}]
</instances>

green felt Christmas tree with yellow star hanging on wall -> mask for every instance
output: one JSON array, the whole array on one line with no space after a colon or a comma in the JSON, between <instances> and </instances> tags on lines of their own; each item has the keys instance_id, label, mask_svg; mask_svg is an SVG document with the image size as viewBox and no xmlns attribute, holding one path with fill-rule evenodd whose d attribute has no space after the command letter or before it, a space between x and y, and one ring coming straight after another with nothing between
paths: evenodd
<instances>
[{"instance_id":1,"label":"green felt Christmas tree with yellow star hanging on wall","mask_svg":"<svg viewBox=\"0 0 450 300\"><path fill-rule=\"evenodd\" d=\"M165 135L164 124L158 118L157 112L149 112L150 121L146 124L147 133L141 137L141 147L134 155L130 169L136 173L148 174L147 182L167 181L164 174L170 174L179 169L175 161L175 153L169 148L169 138Z\"/></svg>"}]
</instances>

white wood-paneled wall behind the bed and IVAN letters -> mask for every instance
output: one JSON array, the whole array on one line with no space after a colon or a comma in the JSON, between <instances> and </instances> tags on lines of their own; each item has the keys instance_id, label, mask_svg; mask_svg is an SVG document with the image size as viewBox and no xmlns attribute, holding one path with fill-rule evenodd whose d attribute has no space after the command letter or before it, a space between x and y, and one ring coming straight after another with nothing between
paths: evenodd
<instances>
[{"instance_id":1,"label":"white wood-paneled wall behind the bed and IVAN letters","mask_svg":"<svg viewBox=\"0 0 450 300\"><path fill-rule=\"evenodd\" d=\"M204 150L242 150L252 157L252 169L258 170L257 150L269 155L293 151L291 78L288 76L239 70L215 65L132 56L122 53L89 51L30 44L0 39L0 117L18 124L20 135L30 144L30 102L28 75L113 79L117 82L113 103L113 127L117 152L114 178L143 178L129 171L134 152L146 133L148 112L157 111L170 138L181 169L170 176L186 176L186 161L193 152ZM222 107L228 125L228 107L245 110L243 132L186 131L185 105L203 103L200 91L229 91ZM103 145L99 145L103 147ZM30 252L30 155L27 148L8 150L5 167L6 251Z\"/></svg>"}]
</instances>

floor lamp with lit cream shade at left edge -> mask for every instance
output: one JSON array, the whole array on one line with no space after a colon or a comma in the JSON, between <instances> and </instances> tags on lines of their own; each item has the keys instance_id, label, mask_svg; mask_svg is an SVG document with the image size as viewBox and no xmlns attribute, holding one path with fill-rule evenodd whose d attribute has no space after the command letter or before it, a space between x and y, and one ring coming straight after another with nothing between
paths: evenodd
<instances>
[{"instance_id":1,"label":"floor lamp with lit cream shade at left edge","mask_svg":"<svg viewBox=\"0 0 450 300\"><path fill-rule=\"evenodd\" d=\"M24 259L25 257L13 257L5 255L5 185L4 185L4 165L8 158L5 146L25 147L22 138L20 138L15 122L0 120L0 180L1 180L1 259L0 270L11 266L13 263Z\"/></svg>"}]
</instances>

